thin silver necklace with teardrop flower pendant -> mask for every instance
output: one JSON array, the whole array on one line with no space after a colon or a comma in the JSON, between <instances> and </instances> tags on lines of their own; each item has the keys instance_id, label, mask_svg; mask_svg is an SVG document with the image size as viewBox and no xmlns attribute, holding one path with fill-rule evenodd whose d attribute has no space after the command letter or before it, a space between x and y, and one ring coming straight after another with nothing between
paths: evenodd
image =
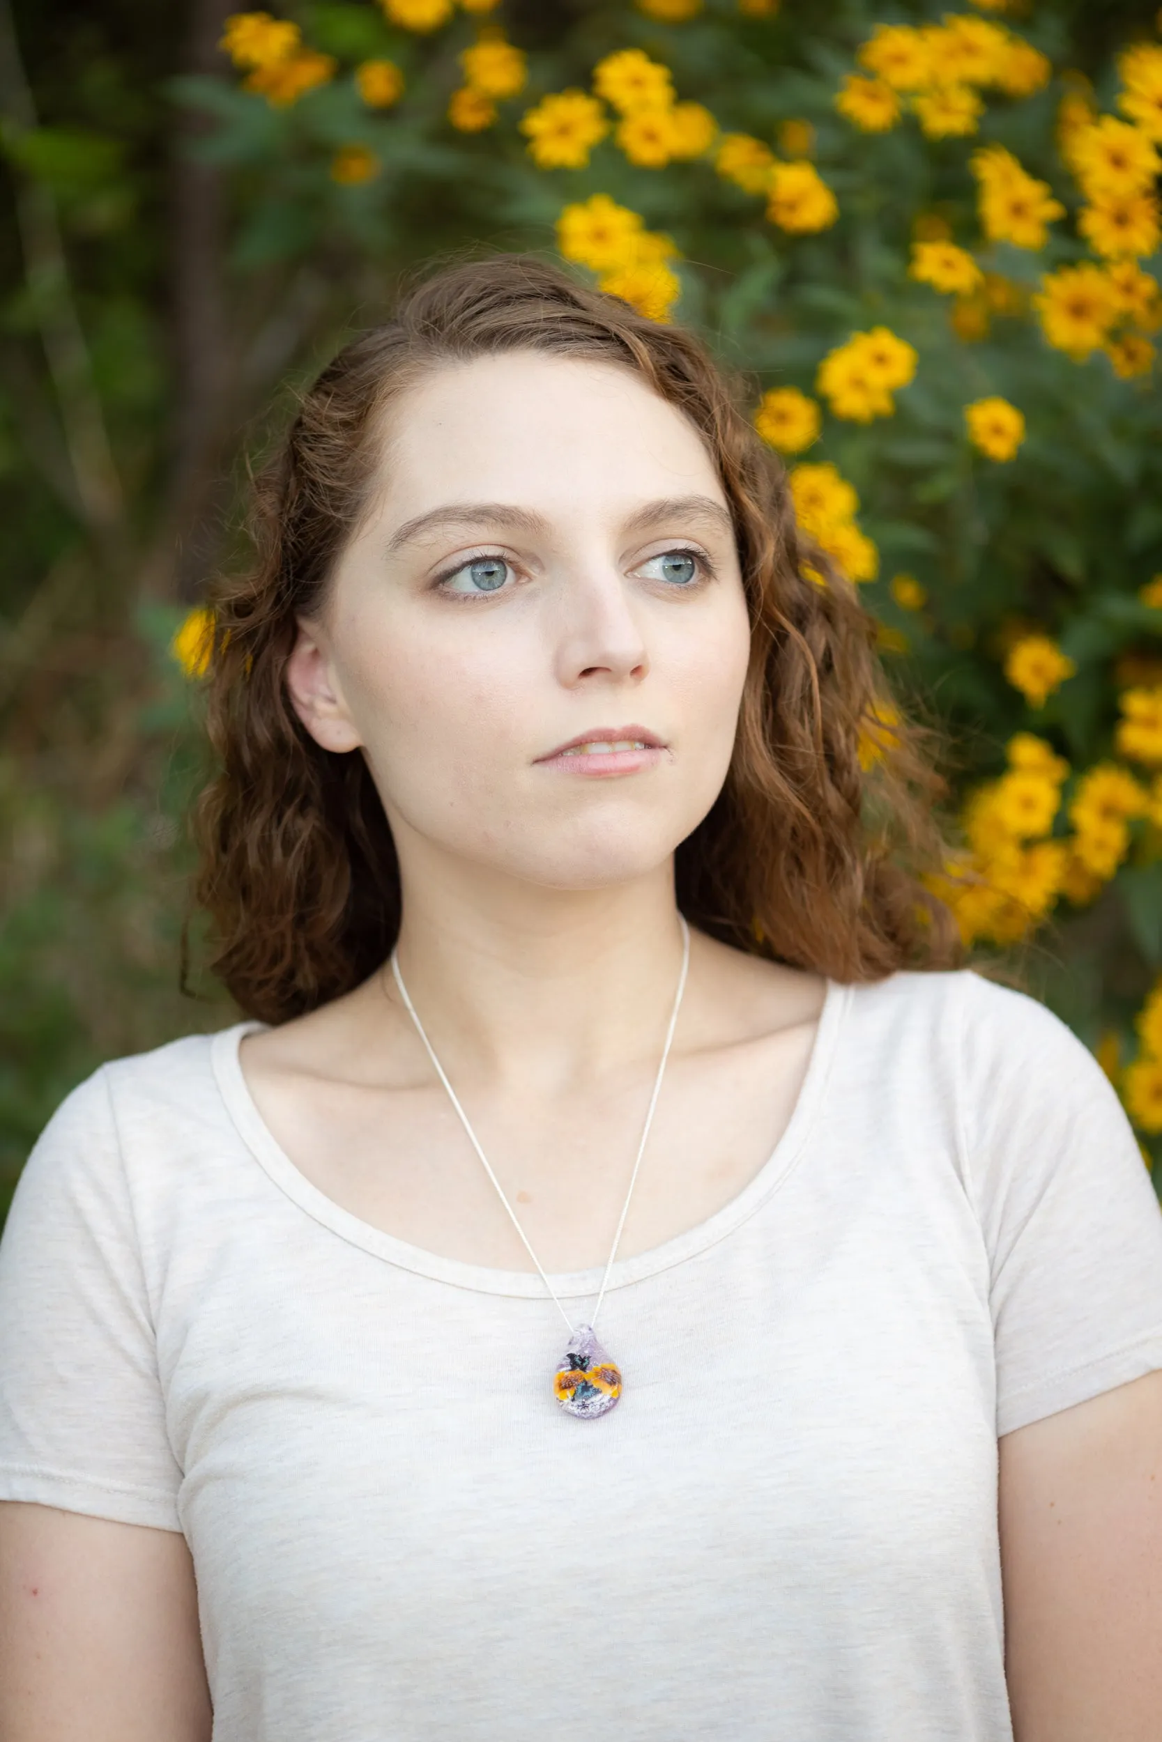
<instances>
[{"instance_id":1,"label":"thin silver necklace with teardrop flower pendant","mask_svg":"<svg viewBox=\"0 0 1162 1742\"><path fill-rule=\"evenodd\" d=\"M625 1226L625 1216L629 1214L629 1200L632 1198L634 1186L638 1185L638 1169L641 1167L641 1157L646 1151L646 1139L650 1136L650 1125L653 1124L653 1110L657 1106L657 1099L659 1099L659 1094L662 1090L662 1077L665 1075L665 1061L669 1059L669 1049L671 1049L671 1045L674 1042L674 1030L678 1026L678 1012L681 1009L681 995L686 989L686 970L690 967L690 927L686 925L685 916L681 913L678 915L678 923L681 925L681 974L678 976L678 991L674 995L674 1009L671 1010L669 1028L665 1030L665 1045L662 1047L662 1063L659 1064L657 1077L653 1078L653 1094L650 1096L650 1106L646 1108L646 1122L645 1122L643 1131L641 1131L641 1143L638 1144L638 1155L634 1158L634 1167L632 1167L632 1172L629 1176L629 1192L625 1193L625 1202L622 1204L622 1214L620 1214L620 1219L617 1223L617 1232L613 1235L613 1246L610 1247L610 1256L608 1256L606 1265L605 1265L605 1275L601 1279L601 1293L598 1294L598 1305L594 1306L592 1317L589 1319L589 1322L587 1324L577 1324L577 1326L573 1324L573 1320L566 1313L566 1310L561 1305L561 1300L559 1300L559 1296L557 1296L552 1282L545 1275L544 1265L537 1258L537 1252L533 1251L533 1247L530 1244L530 1239L524 1233L524 1228L517 1221L516 1211L509 1204L509 1198L503 1195L503 1188L502 1188L500 1181L497 1179L497 1174L491 1171L491 1167L488 1164L488 1157L484 1155L484 1151L483 1151L483 1148L479 1144L479 1139L477 1139L476 1132L472 1131L472 1125L469 1124L469 1115L460 1106L460 1101L456 1099L456 1092L451 1087L451 1084L448 1082L448 1077L444 1073L444 1066L436 1057L436 1049L432 1047L432 1042L427 1038L427 1035L423 1031L423 1023L416 1016L416 1009L415 1009L411 998L408 996L408 988L404 986L404 977L399 972L399 958L397 958L397 955L395 955L394 949L392 949L392 956L390 956L390 960L392 960L392 974L395 976L395 984L399 986L399 995L404 1000L404 1005L408 1009L408 1016L415 1023L416 1033L420 1035L420 1040L423 1042L423 1045L427 1049L429 1059L436 1066L436 1075L439 1077L439 1080L443 1082L444 1089L448 1090L448 1099L451 1101L451 1104L455 1106L456 1113L460 1115L460 1124L463 1125L465 1132L469 1134L469 1141L470 1141L472 1148L476 1150L476 1153L479 1155L481 1162L484 1164L484 1172L488 1174L488 1178L495 1185L497 1195L498 1195L500 1202L503 1204L503 1207L507 1209L509 1219L510 1219L512 1226L521 1235L521 1240L524 1242L524 1249L526 1249L528 1256L537 1265L537 1270L540 1273L540 1280L549 1289L549 1294L552 1296L557 1312L561 1313L561 1317L564 1319L564 1322L568 1326L570 1341L566 1345L563 1359L557 1362L557 1371L556 1371L556 1376L554 1376L552 1388L554 1388L554 1395L556 1395L557 1402L561 1404L561 1408L568 1415L580 1416L584 1421L587 1421L587 1420L591 1420L594 1416L606 1415L613 1408L613 1404L618 1401L618 1397L622 1395L622 1373L620 1373L620 1367L617 1366L617 1362L610 1361L610 1357L606 1355L605 1348L601 1347L601 1343L598 1341L598 1338L594 1334L594 1326L598 1322L598 1313L601 1312L601 1301L605 1300L605 1291L606 1291L608 1282L610 1282L610 1272L613 1270L613 1259L617 1256L617 1247L618 1247L620 1239L622 1239L622 1228Z\"/></svg>"}]
</instances>

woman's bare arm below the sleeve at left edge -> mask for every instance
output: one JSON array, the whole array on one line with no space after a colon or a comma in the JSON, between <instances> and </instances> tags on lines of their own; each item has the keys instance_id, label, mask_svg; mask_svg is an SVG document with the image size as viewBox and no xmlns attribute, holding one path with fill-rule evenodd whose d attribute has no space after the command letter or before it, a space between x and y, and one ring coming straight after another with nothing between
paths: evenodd
<instances>
[{"instance_id":1,"label":"woman's bare arm below the sleeve at left edge","mask_svg":"<svg viewBox=\"0 0 1162 1742\"><path fill-rule=\"evenodd\" d=\"M209 1742L179 1531L0 1502L3 1742Z\"/></svg>"}]
</instances>

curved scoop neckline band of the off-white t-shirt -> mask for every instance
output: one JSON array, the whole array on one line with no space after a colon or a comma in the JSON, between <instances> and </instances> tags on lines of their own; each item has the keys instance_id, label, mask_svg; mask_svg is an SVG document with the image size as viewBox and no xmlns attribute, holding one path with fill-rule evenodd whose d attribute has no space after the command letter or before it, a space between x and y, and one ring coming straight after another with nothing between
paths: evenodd
<instances>
[{"instance_id":1,"label":"curved scoop neckline band of the off-white t-shirt","mask_svg":"<svg viewBox=\"0 0 1162 1742\"><path fill-rule=\"evenodd\" d=\"M782 1136L754 1178L706 1221L686 1228L660 1246L634 1252L631 1258L618 1258L610 1272L610 1289L629 1287L634 1282L659 1275L662 1270L671 1270L674 1265L697 1258L733 1233L784 1185L803 1153L822 1106L824 1087L850 998L850 986L841 981L826 979L824 1002L794 1108ZM434 1282L470 1289L477 1294L544 1300L545 1286L535 1270L498 1270L491 1265L469 1265L458 1258L444 1258L441 1252L432 1252L427 1247L413 1246L409 1240L401 1240L394 1233L385 1233L382 1228L373 1226L373 1223L343 1209L321 1186L314 1185L277 1143L258 1111L258 1103L242 1071L239 1057L242 1038L268 1026L268 1023L242 1021L220 1030L211 1038L211 1066L218 1092L242 1143L293 1204L350 1246L357 1246L361 1251L399 1270L409 1270ZM549 1280L561 1300L575 1300L584 1294L596 1294L601 1287L603 1272L603 1265L594 1265L589 1270L549 1272Z\"/></svg>"}]
</instances>

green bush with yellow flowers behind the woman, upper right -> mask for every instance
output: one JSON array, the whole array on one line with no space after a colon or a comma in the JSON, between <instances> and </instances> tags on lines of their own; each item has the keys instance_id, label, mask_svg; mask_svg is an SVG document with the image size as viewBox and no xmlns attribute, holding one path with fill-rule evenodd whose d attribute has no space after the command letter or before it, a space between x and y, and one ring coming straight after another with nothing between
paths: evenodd
<instances>
[{"instance_id":1,"label":"green bush with yellow flowers behind the woman, upper right","mask_svg":"<svg viewBox=\"0 0 1162 1742\"><path fill-rule=\"evenodd\" d=\"M1085 9L955 3L242 12L235 87L185 96L249 188L242 265L387 289L467 239L556 247L751 373L901 702L949 730L965 939L1026 948L1157 1144L1162 40L1111 16L1098 59Z\"/></svg>"}]
</instances>

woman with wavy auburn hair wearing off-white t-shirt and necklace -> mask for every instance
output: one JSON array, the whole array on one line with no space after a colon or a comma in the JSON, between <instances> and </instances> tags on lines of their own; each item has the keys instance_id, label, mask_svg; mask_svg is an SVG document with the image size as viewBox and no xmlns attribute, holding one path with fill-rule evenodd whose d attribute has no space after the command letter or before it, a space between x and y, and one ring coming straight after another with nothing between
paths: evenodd
<instances>
[{"instance_id":1,"label":"woman with wavy auburn hair wearing off-white t-shirt and necklace","mask_svg":"<svg viewBox=\"0 0 1162 1742\"><path fill-rule=\"evenodd\" d=\"M1162 1218L706 354L458 267L256 530L246 1021L3 1237L5 1739L1157 1742Z\"/></svg>"}]
</instances>

